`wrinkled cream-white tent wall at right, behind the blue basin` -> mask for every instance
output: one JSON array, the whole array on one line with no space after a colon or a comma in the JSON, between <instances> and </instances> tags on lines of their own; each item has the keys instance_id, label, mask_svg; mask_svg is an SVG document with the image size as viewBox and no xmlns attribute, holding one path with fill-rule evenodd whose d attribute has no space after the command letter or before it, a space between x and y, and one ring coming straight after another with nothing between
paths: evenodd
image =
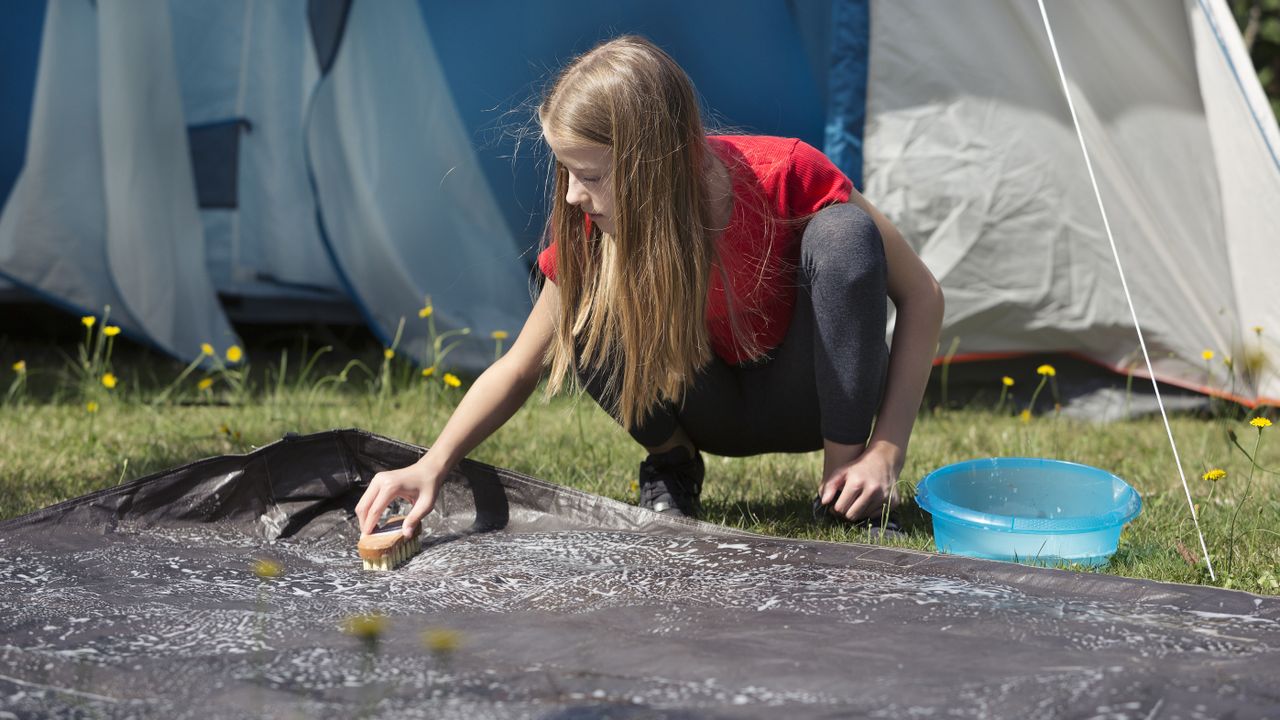
<instances>
[{"instance_id":1,"label":"wrinkled cream-white tent wall at right, behind the blue basin","mask_svg":"<svg viewBox=\"0 0 1280 720\"><path fill-rule=\"evenodd\" d=\"M1280 328L1276 124L1225 3L1047 9L1157 377L1275 402L1280 374L1201 357L1274 352L1252 328ZM1140 366L1037 4L964 14L872 5L864 193L942 283L942 347Z\"/></svg>"}]
</instances>

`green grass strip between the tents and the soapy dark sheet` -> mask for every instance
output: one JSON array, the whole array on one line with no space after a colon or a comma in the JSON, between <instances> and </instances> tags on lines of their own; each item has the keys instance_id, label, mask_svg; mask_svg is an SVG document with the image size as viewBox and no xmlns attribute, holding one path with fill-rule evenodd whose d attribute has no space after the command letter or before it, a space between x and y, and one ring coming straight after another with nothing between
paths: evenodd
<instances>
[{"instance_id":1,"label":"green grass strip between the tents and the soapy dark sheet","mask_svg":"<svg viewBox=\"0 0 1280 720\"><path fill-rule=\"evenodd\" d=\"M285 432L360 427L416 445L443 428L466 384L452 388L443 373L422 377L381 348L342 364L337 352L279 354L255 366L210 364L173 386L180 366L138 351L99 357L84 372L74 354L46 352L28 360L19 392L3 392L23 348L0 342L0 518L110 487L200 457L248 452ZM29 352L28 352L29 355ZM92 352L90 352L92 355ZM251 357L268 356L252 350ZM101 373L118 384L105 388ZM201 379L212 387L198 389ZM206 383L209 384L209 383ZM992 387L1000 377L992 378ZM169 392L165 393L165 388ZM161 400L159 401L157 400ZM643 451L585 396L532 400L471 457L622 501L632 488ZM90 413L88 402L97 402ZM928 471L959 460L1000 455L1060 457L1096 465L1125 478L1143 496L1143 511L1120 538L1108 565L1097 571L1181 583L1217 584L1280 594L1280 478L1253 470L1240 447L1261 441L1260 465L1280 468L1280 425L1251 427L1239 409L1217 418L1175 416L1172 428L1192 493L1199 506L1216 582L1201 557L1199 539L1172 454L1158 419L1080 424L1056 415L1024 421L1016 409L963 407L922 413L911 439L901 491L911 496ZM1239 438L1233 445L1229 430ZM707 519L756 533L867 542L867 530L815 524L809 502L822 468L820 452L748 459L708 456ZM1212 483L1202 475L1221 468ZM1248 496L1245 497L1248 487ZM1242 505L1243 500L1243 505ZM933 550L927 516L909 502L908 534L887 544ZM1234 528L1233 528L1234 518Z\"/></svg>"}]
</instances>

